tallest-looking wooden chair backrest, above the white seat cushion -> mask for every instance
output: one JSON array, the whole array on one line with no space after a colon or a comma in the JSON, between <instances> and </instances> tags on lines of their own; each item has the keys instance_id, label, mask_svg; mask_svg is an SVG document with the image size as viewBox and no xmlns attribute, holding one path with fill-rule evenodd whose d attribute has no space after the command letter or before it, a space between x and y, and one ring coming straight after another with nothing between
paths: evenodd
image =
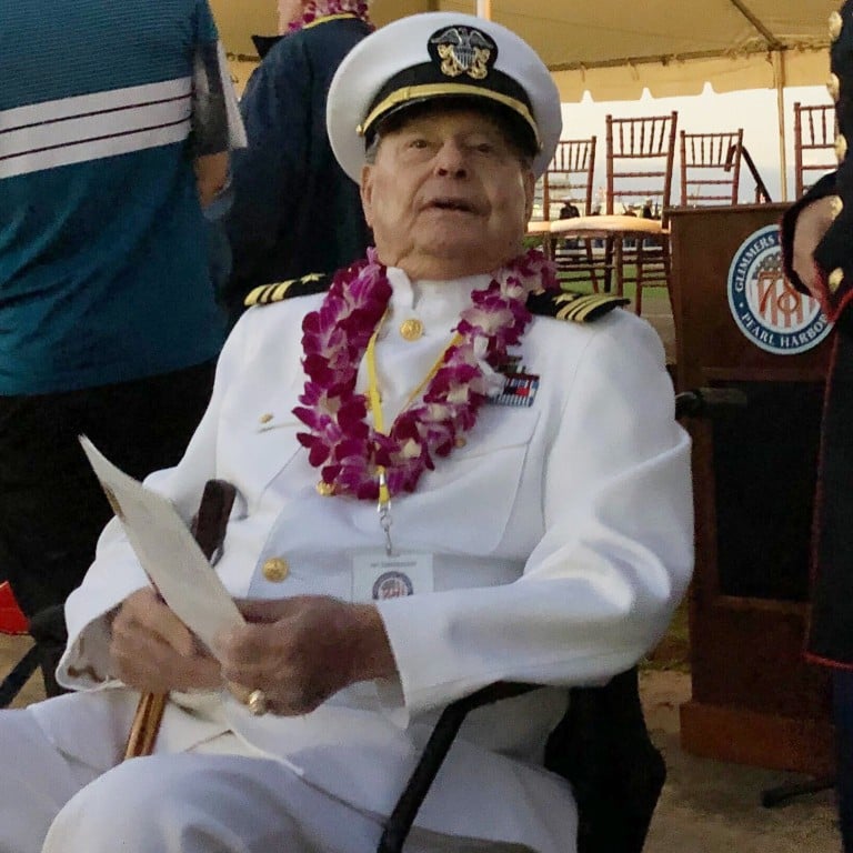
<instances>
[{"instance_id":1,"label":"tallest-looking wooden chair backrest, above the white seat cushion","mask_svg":"<svg viewBox=\"0 0 853 853\"><path fill-rule=\"evenodd\" d=\"M652 199L659 210L670 205L679 114L633 119L606 117L606 213L619 205L639 207Z\"/></svg>"}]
</instances>

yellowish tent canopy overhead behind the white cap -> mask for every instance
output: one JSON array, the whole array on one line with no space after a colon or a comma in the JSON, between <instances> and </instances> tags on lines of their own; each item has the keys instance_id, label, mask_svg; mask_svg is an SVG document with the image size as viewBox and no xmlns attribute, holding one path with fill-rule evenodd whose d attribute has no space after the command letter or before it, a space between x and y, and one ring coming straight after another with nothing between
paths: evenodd
<instances>
[{"instance_id":1,"label":"yellowish tent canopy overhead behind the white cap","mask_svg":"<svg viewBox=\"0 0 853 853\"><path fill-rule=\"evenodd\" d=\"M274 0L212 0L227 49L254 53ZM515 30L554 71L564 101L822 83L839 0L374 0L378 24L419 11L473 13Z\"/></svg>"}]
</instances>

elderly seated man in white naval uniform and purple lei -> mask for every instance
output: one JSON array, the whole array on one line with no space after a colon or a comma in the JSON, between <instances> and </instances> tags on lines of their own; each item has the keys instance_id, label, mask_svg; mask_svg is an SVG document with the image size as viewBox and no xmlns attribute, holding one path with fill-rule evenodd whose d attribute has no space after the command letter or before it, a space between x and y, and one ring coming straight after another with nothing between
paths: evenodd
<instances>
[{"instance_id":1,"label":"elderly seated man in white naval uniform and purple lei","mask_svg":"<svg viewBox=\"0 0 853 853\"><path fill-rule=\"evenodd\" d=\"M215 571L247 624L202 646L113 521L68 603L77 692L0 714L0 851L367 853L438 713L496 680L550 686L471 716L408 850L573 849L544 739L568 686L660 639L692 518L654 331L526 308L555 285L522 240L560 129L498 24L417 16L348 57L329 130L377 249L325 294L255 299L148 481L188 522L235 485ZM160 733L121 762L143 691L170 692Z\"/></svg>"}]
</instances>

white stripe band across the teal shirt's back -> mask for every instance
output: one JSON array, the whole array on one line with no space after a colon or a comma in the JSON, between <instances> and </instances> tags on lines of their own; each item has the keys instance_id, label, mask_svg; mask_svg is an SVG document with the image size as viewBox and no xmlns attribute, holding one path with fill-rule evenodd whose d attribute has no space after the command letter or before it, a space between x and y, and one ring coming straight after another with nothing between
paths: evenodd
<instances>
[{"instance_id":1,"label":"white stripe band across the teal shirt's back","mask_svg":"<svg viewBox=\"0 0 853 853\"><path fill-rule=\"evenodd\" d=\"M113 89L0 112L0 179L180 142L192 80Z\"/></svg>"}]
</instances>

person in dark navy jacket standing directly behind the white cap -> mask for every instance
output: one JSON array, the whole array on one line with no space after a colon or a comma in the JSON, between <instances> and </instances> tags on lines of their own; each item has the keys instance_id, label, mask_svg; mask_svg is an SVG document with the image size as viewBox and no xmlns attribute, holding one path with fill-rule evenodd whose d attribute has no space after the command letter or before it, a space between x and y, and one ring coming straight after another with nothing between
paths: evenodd
<instances>
[{"instance_id":1,"label":"person in dark navy jacket standing directly behind the white cap","mask_svg":"<svg viewBox=\"0 0 853 853\"><path fill-rule=\"evenodd\" d=\"M234 155L224 227L232 271L221 293L231 320L259 284L333 272L364 254L370 232L358 185L332 154L329 86L372 27L363 0L279 0L284 33L252 74L240 110L249 147Z\"/></svg>"}]
</instances>

